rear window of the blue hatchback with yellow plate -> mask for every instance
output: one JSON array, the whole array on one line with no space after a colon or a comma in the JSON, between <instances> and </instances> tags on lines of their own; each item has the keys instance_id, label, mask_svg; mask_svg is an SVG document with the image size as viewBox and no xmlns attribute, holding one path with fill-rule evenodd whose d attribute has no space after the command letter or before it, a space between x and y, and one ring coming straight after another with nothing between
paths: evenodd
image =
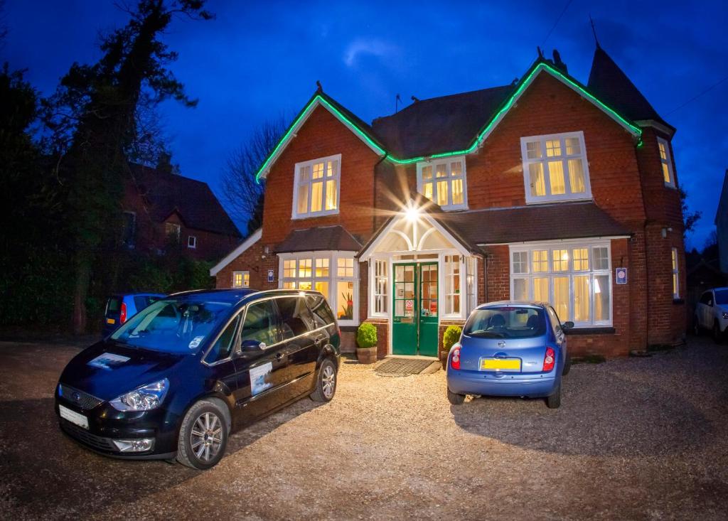
<instances>
[{"instance_id":1,"label":"rear window of the blue hatchback with yellow plate","mask_svg":"<svg viewBox=\"0 0 728 521\"><path fill-rule=\"evenodd\" d=\"M531 338L545 333L544 310L518 306L476 309L463 331L478 338Z\"/></svg>"}]
</instances>

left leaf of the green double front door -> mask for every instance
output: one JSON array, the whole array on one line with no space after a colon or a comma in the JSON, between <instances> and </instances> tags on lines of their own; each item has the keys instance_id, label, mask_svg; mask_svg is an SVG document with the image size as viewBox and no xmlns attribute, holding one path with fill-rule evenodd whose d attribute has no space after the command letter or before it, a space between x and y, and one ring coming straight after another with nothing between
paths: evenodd
<instances>
[{"instance_id":1,"label":"left leaf of the green double front door","mask_svg":"<svg viewBox=\"0 0 728 521\"><path fill-rule=\"evenodd\" d=\"M417 354L416 279L416 264L395 264L392 354Z\"/></svg>"}]
</instances>

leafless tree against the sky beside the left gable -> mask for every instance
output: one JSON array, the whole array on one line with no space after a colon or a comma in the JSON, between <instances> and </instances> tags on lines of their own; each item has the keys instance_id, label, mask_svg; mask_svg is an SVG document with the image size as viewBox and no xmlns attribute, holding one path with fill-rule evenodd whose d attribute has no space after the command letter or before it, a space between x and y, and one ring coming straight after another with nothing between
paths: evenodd
<instances>
[{"instance_id":1,"label":"leafless tree against the sky beside the left gable","mask_svg":"<svg viewBox=\"0 0 728 521\"><path fill-rule=\"evenodd\" d=\"M265 180L257 183L256 173L287 128L283 116L264 122L232 151L223 168L223 197L235 220L247 220L248 235L263 224Z\"/></svg>"}]
</instances>

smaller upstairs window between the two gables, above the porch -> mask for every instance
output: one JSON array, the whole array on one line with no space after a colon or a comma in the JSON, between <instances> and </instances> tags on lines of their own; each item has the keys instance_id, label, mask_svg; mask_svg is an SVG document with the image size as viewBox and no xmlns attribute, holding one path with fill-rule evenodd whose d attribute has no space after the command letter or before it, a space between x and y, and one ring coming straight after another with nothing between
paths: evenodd
<instances>
[{"instance_id":1,"label":"smaller upstairs window between the two gables, above the porch","mask_svg":"<svg viewBox=\"0 0 728 521\"><path fill-rule=\"evenodd\" d=\"M443 210L467 208L465 158L418 163L417 191Z\"/></svg>"}]
</instances>

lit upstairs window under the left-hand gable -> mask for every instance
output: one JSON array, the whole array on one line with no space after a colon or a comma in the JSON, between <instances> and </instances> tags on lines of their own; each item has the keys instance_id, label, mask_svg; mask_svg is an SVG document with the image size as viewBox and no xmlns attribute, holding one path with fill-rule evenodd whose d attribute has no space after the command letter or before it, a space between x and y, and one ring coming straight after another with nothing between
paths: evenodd
<instances>
[{"instance_id":1,"label":"lit upstairs window under the left-hand gable","mask_svg":"<svg viewBox=\"0 0 728 521\"><path fill-rule=\"evenodd\" d=\"M296 163L293 218L339 213L341 154Z\"/></svg>"}]
</instances>

